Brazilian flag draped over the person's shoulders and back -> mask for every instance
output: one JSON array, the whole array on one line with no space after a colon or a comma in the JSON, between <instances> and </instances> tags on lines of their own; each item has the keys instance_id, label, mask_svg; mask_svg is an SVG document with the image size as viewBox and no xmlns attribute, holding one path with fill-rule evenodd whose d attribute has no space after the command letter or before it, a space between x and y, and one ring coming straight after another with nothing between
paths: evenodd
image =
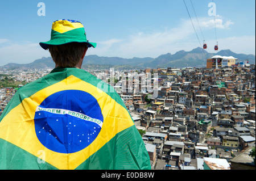
<instances>
[{"instance_id":1,"label":"Brazilian flag draped over the person's shoulders and back","mask_svg":"<svg viewBox=\"0 0 256 181\"><path fill-rule=\"evenodd\" d=\"M151 169L113 87L56 68L21 87L0 117L0 169Z\"/></svg>"}]
</instances>

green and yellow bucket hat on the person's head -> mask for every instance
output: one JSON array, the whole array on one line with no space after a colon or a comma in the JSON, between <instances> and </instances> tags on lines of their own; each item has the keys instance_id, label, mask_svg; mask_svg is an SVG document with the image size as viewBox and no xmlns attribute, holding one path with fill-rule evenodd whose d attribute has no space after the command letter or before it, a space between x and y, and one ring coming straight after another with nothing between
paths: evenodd
<instances>
[{"instance_id":1,"label":"green and yellow bucket hat on the person's head","mask_svg":"<svg viewBox=\"0 0 256 181\"><path fill-rule=\"evenodd\" d=\"M40 42L43 49L48 49L49 45L62 45L71 42L86 43L88 47L96 47L96 43L86 39L84 26L76 20L61 19L52 23L51 40Z\"/></svg>"}]
</instances>

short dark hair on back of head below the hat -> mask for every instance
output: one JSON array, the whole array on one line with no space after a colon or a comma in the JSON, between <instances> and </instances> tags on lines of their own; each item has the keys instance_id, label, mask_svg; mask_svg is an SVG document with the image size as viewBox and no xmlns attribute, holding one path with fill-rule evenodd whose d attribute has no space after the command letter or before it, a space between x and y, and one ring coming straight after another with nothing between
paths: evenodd
<instances>
[{"instance_id":1,"label":"short dark hair on back of head below the hat","mask_svg":"<svg viewBox=\"0 0 256 181\"><path fill-rule=\"evenodd\" d=\"M73 68L80 61L87 45L72 42L63 45L49 45L52 60L61 68Z\"/></svg>"}]
</instances>

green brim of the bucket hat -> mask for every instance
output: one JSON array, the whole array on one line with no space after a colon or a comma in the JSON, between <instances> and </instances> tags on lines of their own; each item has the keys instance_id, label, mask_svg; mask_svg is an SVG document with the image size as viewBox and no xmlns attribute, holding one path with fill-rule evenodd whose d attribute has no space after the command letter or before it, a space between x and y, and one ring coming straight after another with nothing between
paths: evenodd
<instances>
[{"instance_id":1,"label":"green brim of the bucket hat","mask_svg":"<svg viewBox=\"0 0 256 181\"><path fill-rule=\"evenodd\" d=\"M97 45L97 43L92 43L84 40L76 40L76 39L53 39L46 42L40 42L39 45L43 49L47 50L49 48L49 45L63 45L63 44L72 43L72 42L86 43L88 48L90 47L95 48Z\"/></svg>"}]
</instances>

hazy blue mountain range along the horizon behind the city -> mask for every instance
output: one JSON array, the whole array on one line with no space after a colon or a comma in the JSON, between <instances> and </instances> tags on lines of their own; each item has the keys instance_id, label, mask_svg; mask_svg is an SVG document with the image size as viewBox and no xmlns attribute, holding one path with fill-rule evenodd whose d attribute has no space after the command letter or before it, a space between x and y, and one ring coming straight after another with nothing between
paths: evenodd
<instances>
[{"instance_id":1,"label":"hazy blue mountain range along the horizon behind the city","mask_svg":"<svg viewBox=\"0 0 256 181\"><path fill-rule=\"evenodd\" d=\"M195 48L189 52L180 50L175 54L162 54L157 58L120 58L120 57L99 57L97 55L85 56L83 68L167 68L167 67L205 67L206 60L214 55L233 56L238 58L237 62L249 60L249 64L255 64L254 54L237 54L231 50L221 50L218 53L208 53L203 48ZM101 66L98 66L101 65ZM104 66L103 66L104 65ZM117 66L118 65L118 66ZM55 64L51 57L43 57L30 64L7 64L0 68L54 68Z\"/></svg>"}]
</instances>

